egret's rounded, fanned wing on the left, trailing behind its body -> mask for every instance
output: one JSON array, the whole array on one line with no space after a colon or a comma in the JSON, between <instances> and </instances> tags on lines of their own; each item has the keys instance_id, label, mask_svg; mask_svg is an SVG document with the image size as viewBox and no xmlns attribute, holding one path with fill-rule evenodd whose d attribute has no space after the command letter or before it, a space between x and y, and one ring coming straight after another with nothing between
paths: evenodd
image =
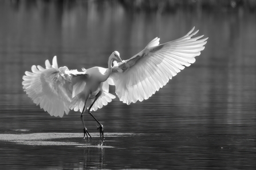
<instances>
[{"instance_id":1,"label":"egret's rounded, fanned wing on the left, trailing behind its body","mask_svg":"<svg viewBox=\"0 0 256 170\"><path fill-rule=\"evenodd\" d=\"M45 61L46 68L32 66L32 72L26 71L23 76L23 89L37 105L40 104L51 116L68 115L69 103L72 99L72 82L68 75L64 76L67 67L58 68L57 58L54 56L53 65Z\"/></svg>"}]
</instances>

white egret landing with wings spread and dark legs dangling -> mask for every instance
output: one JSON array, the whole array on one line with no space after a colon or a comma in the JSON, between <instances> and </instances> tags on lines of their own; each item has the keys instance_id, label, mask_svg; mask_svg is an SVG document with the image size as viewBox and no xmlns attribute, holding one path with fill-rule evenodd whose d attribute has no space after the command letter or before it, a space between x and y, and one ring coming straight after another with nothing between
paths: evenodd
<instances>
[{"instance_id":1,"label":"white egret landing with wings spread and dark legs dangling","mask_svg":"<svg viewBox=\"0 0 256 170\"><path fill-rule=\"evenodd\" d=\"M148 99L172 79L184 66L195 62L208 38L192 38L198 33L194 28L184 37L159 44L159 38L153 39L138 54L128 60L121 60L119 52L114 51L108 59L108 68L82 68L82 71L58 67L54 56L53 64L45 61L46 68L32 66L32 72L23 76L23 89L37 105L40 104L51 116L68 115L70 110L80 111L85 135L87 131L83 113L87 109L96 111L115 99L109 94L109 85L116 87L116 95L123 103L136 103ZM103 125L99 123L100 138L104 141ZM90 138L92 138L90 136Z\"/></svg>"}]
</instances>

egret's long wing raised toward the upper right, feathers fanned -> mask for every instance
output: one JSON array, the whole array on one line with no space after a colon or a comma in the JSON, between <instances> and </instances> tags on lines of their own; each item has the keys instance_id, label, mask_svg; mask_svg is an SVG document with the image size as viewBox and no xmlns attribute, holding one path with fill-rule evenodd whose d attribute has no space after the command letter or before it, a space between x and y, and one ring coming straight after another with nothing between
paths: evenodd
<instances>
[{"instance_id":1,"label":"egret's long wing raised toward the upper right, feathers fanned","mask_svg":"<svg viewBox=\"0 0 256 170\"><path fill-rule=\"evenodd\" d=\"M208 39L200 39L203 35L191 38L198 33L192 33L194 28L184 37L164 44L155 38L132 58L115 63L108 82L116 86L119 99L127 104L148 99L184 66L194 63Z\"/></svg>"}]
</instances>

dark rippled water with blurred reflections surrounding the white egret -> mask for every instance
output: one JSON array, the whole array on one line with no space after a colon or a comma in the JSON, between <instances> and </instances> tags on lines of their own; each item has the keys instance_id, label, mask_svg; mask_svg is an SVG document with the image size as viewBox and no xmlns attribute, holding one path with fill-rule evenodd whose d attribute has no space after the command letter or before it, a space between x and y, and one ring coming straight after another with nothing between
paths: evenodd
<instances>
[{"instance_id":1,"label":"dark rippled water with blurred reflections surrounding the white egret","mask_svg":"<svg viewBox=\"0 0 256 170\"><path fill-rule=\"evenodd\" d=\"M1 169L256 168L256 15L242 8L134 11L122 3L0 2ZM60 6L61 5L61 6ZM33 64L107 67L155 37L167 42L193 26L209 37L195 64L150 99L118 99L85 116L51 117L22 90ZM112 92L114 89L111 89Z\"/></svg>"}]
</instances>

